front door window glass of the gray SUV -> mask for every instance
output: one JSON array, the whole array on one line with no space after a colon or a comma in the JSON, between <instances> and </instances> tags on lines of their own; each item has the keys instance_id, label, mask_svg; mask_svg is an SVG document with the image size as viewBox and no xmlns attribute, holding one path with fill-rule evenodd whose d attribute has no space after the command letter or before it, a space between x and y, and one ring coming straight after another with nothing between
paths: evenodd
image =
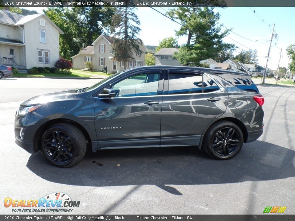
<instances>
[{"instance_id":1,"label":"front door window glass of the gray SUV","mask_svg":"<svg viewBox=\"0 0 295 221\"><path fill-rule=\"evenodd\" d=\"M116 97L157 95L159 73L139 74L120 81L112 86Z\"/></svg>"}]
</instances>

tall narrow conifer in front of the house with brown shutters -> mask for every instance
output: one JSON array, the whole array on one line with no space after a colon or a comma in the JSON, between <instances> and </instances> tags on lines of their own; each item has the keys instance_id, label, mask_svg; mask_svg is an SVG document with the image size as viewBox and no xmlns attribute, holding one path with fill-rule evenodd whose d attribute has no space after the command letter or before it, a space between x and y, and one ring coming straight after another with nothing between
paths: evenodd
<instances>
[{"instance_id":1,"label":"tall narrow conifer in front of the house with brown shutters","mask_svg":"<svg viewBox=\"0 0 295 221\"><path fill-rule=\"evenodd\" d=\"M134 13L132 0L123 0L126 7L117 7L112 17L111 32L116 37L113 43L113 59L124 62L124 69L129 60L134 60L133 52L141 55L140 21Z\"/></svg>"}]
</instances>

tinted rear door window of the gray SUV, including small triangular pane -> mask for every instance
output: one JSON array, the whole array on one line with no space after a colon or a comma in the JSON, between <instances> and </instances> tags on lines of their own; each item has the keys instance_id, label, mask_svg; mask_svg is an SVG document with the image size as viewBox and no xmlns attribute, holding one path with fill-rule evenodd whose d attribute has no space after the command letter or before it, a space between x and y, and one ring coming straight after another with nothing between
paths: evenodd
<instances>
[{"instance_id":1,"label":"tinted rear door window of the gray SUV, including small triangular pane","mask_svg":"<svg viewBox=\"0 0 295 221\"><path fill-rule=\"evenodd\" d=\"M191 94L202 93L202 83L204 84L204 93L216 91L219 89L217 84L201 74L193 73L169 73L168 94Z\"/></svg>"}]
</instances>

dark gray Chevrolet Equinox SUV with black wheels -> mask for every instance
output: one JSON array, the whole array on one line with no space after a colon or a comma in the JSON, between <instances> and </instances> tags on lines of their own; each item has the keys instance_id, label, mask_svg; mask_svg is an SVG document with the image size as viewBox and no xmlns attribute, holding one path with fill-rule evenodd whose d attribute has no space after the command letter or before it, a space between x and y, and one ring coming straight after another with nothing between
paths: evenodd
<instances>
[{"instance_id":1,"label":"dark gray Chevrolet Equinox SUV with black wheels","mask_svg":"<svg viewBox=\"0 0 295 221\"><path fill-rule=\"evenodd\" d=\"M59 167L76 164L86 148L197 146L223 160L263 133L263 103L248 74L146 66L28 99L14 131L18 145L41 149Z\"/></svg>"}]
</instances>

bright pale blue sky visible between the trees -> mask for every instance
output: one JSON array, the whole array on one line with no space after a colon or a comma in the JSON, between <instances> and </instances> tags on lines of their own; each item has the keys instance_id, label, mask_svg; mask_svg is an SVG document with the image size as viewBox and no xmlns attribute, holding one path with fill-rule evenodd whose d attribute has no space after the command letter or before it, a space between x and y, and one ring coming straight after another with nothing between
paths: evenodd
<instances>
[{"instance_id":1,"label":"bright pale blue sky visible between the trees","mask_svg":"<svg viewBox=\"0 0 295 221\"><path fill-rule=\"evenodd\" d=\"M47 9L47 7L23 8L35 10L38 13ZM143 40L144 45L157 46L159 41L165 37L176 37L175 30L179 29L179 24L150 7L137 7L136 9L135 13L141 22L139 37ZM169 10L168 7L154 7L154 9L163 14ZM295 44L295 7L217 7L214 11L220 14L218 22L224 27L232 29L232 32L223 41L238 46L234 55L242 50L256 49L258 64L263 67L266 65L273 24L275 24L274 33L278 34L278 37L273 38L268 67L277 69L281 51L280 67L287 67L289 58L286 48ZM222 27L222 31L226 30L224 27ZM185 36L179 37L179 45L184 44L186 40Z\"/></svg>"}]
</instances>

